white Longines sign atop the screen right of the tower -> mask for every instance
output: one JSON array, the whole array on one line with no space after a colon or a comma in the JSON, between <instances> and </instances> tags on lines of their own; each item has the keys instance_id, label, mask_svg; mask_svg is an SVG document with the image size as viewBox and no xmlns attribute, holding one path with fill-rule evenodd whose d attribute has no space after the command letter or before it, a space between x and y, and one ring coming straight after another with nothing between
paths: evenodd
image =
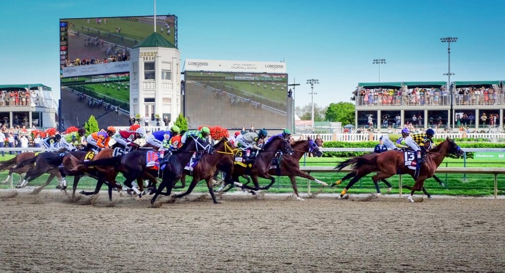
<instances>
[{"instance_id":1,"label":"white Longines sign atop the screen right of the tower","mask_svg":"<svg viewBox=\"0 0 505 273\"><path fill-rule=\"evenodd\" d=\"M185 70L286 73L286 63L186 59Z\"/></svg>"}]
</instances>

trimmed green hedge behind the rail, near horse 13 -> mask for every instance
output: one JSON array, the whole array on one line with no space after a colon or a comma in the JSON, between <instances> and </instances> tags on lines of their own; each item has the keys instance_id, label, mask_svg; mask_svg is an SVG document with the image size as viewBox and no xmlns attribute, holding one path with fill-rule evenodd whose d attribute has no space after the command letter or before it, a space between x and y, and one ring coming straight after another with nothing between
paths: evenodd
<instances>
[{"instance_id":1,"label":"trimmed green hedge behind the rail, near horse 13","mask_svg":"<svg viewBox=\"0 0 505 273\"><path fill-rule=\"evenodd\" d=\"M439 142L435 142L439 143ZM492 142L456 142L463 150L465 148L505 148L505 143ZM375 148L379 144L374 141L363 142L341 142L327 141L324 143L324 148ZM323 157L353 157L367 154L368 152L324 152ZM473 158L474 153L468 152L467 158Z\"/></svg>"}]
</instances>

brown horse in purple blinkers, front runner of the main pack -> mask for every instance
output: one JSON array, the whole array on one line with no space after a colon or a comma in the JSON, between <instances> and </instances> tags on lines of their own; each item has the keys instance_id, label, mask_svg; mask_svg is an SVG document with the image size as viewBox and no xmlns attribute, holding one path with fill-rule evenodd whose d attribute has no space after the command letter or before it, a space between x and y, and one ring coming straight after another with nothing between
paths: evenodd
<instances>
[{"instance_id":1,"label":"brown horse in purple blinkers, front runner of the main pack","mask_svg":"<svg viewBox=\"0 0 505 273\"><path fill-rule=\"evenodd\" d=\"M279 166L275 168L270 168L268 173L271 175L277 176L288 176L291 181L291 186L293 187L294 194L296 195L297 200L304 200L298 194L298 188L296 187L296 176L307 178L309 180L315 181L318 184L323 186L328 186L323 181L320 181L314 178L312 175L300 170L300 158L304 156L305 153L314 154L317 157L323 156L323 153L319 151L319 147L314 143L314 141L307 137L307 140L297 141L291 144L291 148L293 148L294 153L292 155L284 155ZM279 169L277 167L280 167ZM310 181L309 181L310 183ZM244 185L247 185L244 183Z\"/></svg>"}]
</instances>

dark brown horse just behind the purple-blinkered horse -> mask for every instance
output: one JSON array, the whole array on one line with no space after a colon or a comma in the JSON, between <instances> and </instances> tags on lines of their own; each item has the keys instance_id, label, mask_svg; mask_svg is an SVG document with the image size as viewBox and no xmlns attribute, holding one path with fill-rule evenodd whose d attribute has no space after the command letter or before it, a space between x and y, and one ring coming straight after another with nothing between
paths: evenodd
<instances>
[{"instance_id":1,"label":"dark brown horse just behind the purple-blinkered horse","mask_svg":"<svg viewBox=\"0 0 505 273\"><path fill-rule=\"evenodd\" d=\"M224 186L227 186L231 183L241 187L242 189L248 189L252 191L259 190L268 190L275 183L275 178L270 175L269 169L272 164L272 159L278 153L282 152L283 154L293 154L294 151L291 148L291 145L287 140L282 138L280 135L275 135L270 138L270 140L265 144L265 146L259 151L259 154L256 156L253 164L245 165L240 164L241 162L235 162L235 166L233 168L232 180L225 181ZM239 164L237 164L239 163ZM247 174L250 176L252 183L254 183L254 188L249 187L247 185L242 185L239 183L239 176ZM266 187L260 187L258 183L258 177L270 179L270 184Z\"/></svg>"}]
</instances>

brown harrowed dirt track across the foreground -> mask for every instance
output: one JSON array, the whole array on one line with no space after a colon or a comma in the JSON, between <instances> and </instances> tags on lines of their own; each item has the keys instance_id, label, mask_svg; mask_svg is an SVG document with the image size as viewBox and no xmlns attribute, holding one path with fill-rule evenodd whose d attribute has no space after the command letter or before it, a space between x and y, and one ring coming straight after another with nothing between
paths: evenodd
<instances>
[{"instance_id":1,"label":"brown harrowed dirt track across the foreground","mask_svg":"<svg viewBox=\"0 0 505 273\"><path fill-rule=\"evenodd\" d=\"M118 195L107 207L106 195L0 192L0 271L505 270L505 200L190 196L149 208Z\"/></svg>"}]
</instances>

